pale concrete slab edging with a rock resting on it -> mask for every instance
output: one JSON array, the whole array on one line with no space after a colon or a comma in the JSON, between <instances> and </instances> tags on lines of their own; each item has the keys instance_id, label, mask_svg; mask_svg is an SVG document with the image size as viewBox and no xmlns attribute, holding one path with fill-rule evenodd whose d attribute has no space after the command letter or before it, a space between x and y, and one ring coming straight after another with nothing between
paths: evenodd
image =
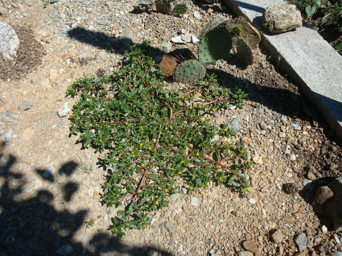
<instances>
[{"instance_id":1,"label":"pale concrete slab edging with a rock resting on it","mask_svg":"<svg viewBox=\"0 0 342 256\"><path fill-rule=\"evenodd\" d=\"M261 43L301 87L304 95L342 138L342 57L308 23L294 31L271 34L262 26L262 12L283 0L225 0L237 15L260 32Z\"/></svg>"}]
</instances>

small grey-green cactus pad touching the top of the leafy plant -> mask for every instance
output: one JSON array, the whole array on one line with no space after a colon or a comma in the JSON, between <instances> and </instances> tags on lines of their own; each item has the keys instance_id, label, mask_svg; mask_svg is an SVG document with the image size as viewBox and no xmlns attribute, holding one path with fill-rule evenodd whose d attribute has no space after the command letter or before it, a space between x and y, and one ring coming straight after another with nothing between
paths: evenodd
<instances>
[{"instance_id":1,"label":"small grey-green cactus pad touching the top of the leafy plant","mask_svg":"<svg viewBox=\"0 0 342 256\"><path fill-rule=\"evenodd\" d=\"M180 63L174 70L173 79L175 82L195 83L204 78L205 67L196 60L186 60Z\"/></svg>"}]
</instances>

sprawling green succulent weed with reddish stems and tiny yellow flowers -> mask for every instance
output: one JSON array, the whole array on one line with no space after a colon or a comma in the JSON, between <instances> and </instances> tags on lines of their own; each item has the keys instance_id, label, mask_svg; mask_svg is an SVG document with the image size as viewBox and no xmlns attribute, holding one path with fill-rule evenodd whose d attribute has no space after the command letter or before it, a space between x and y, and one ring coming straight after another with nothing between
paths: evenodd
<instances>
[{"instance_id":1,"label":"sprawling green succulent weed with reddish stems and tiny yellow flowers","mask_svg":"<svg viewBox=\"0 0 342 256\"><path fill-rule=\"evenodd\" d=\"M181 91L167 89L147 41L126 56L113 74L78 79L67 92L79 97L70 134L84 147L105 151L102 201L123 207L109 230L123 236L145 228L149 212L168 206L177 183L188 194L214 181L245 195L253 162L233 142L234 131L208 117L231 104L242 107L246 95L220 87L214 75Z\"/></svg>"}]
</instances>

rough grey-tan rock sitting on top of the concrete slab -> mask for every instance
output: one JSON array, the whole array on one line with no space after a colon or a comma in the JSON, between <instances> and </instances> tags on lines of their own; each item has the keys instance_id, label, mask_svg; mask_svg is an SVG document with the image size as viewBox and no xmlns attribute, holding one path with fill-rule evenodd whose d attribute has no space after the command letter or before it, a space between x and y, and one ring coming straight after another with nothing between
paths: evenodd
<instances>
[{"instance_id":1,"label":"rough grey-tan rock sitting on top of the concrete slab","mask_svg":"<svg viewBox=\"0 0 342 256\"><path fill-rule=\"evenodd\" d=\"M262 13L262 25L271 33L281 33L301 26L300 10L295 4L277 4Z\"/></svg>"}]
</instances>

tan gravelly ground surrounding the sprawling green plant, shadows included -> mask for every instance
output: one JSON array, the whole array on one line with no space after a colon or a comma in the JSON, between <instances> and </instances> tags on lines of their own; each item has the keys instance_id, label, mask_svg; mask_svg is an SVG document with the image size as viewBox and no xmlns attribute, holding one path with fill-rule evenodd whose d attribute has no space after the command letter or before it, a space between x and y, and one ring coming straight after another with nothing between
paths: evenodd
<instances>
[{"instance_id":1,"label":"tan gravelly ground surrounding the sprawling green plant, shadows included","mask_svg":"<svg viewBox=\"0 0 342 256\"><path fill-rule=\"evenodd\" d=\"M177 18L153 7L138 13L129 0L4 2L0 21L16 28L21 57L14 68L0 63L3 255L342 252L342 234L312 207L317 188L342 175L341 141L262 46L246 69L234 55L207 66L225 86L249 93L243 109L221 109L213 117L237 130L236 140L255 162L247 197L215 184L191 196L180 190L147 229L122 238L107 231L117 209L100 202L106 175L96 164L100 156L76 144L68 136L70 121L57 115L65 102L69 108L75 103L64 99L67 86L84 74L118 68L130 42L151 39L159 60L176 48L195 53L195 39L171 39L181 29L183 39L196 36L214 17L234 17L226 6L186 1L188 12ZM93 227L86 228L91 219Z\"/></svg>"}]
</instances>

